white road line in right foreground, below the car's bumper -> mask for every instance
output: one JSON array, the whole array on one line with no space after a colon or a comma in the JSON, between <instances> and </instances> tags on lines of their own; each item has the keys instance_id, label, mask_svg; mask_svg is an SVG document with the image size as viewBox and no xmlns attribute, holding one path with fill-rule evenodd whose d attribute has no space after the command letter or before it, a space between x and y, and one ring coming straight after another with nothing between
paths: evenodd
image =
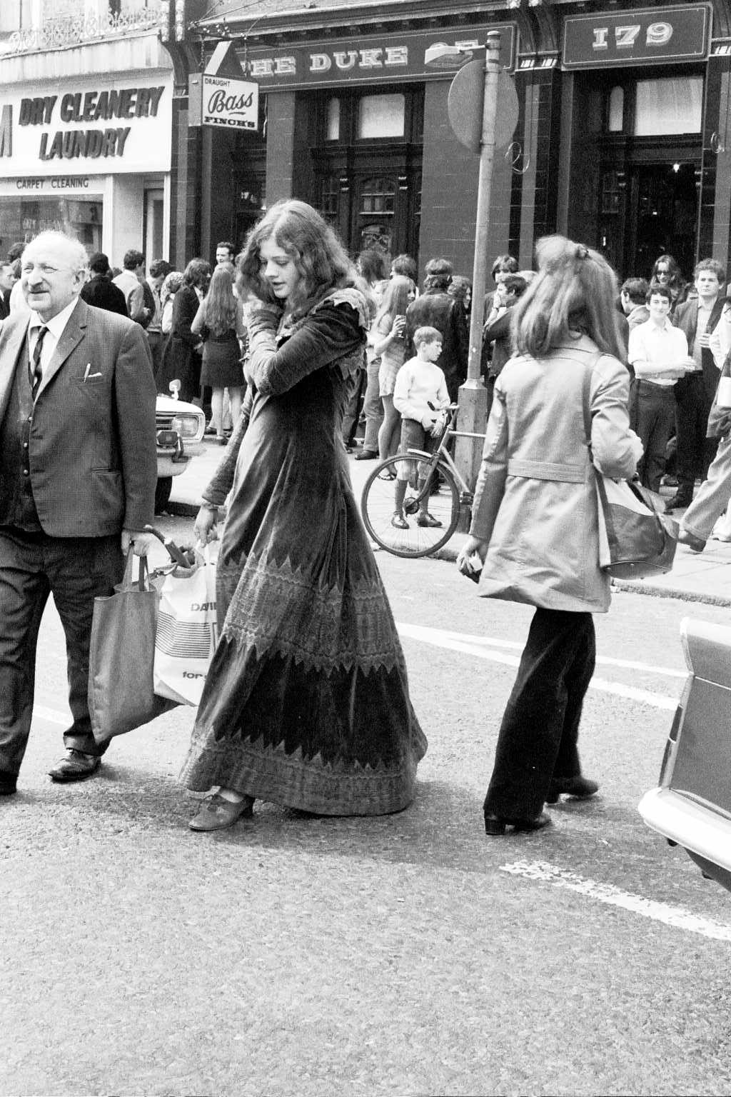
<instances>
[{"instance_id":1,"label":"white road line in right foreground, below the car's bumper","mask_svg":"<svg viewBox=\"0 0 731 1097\"><path fill-rule=\"evenodd\" d=\"M575 872L558 869L546 861L514 861L512 864L501 864L500 871L511 872L527 880L537 880L553 887L566 887L598 903L619 906L632 914L639 914L642 918L652 918L654 921L662 921L666 926L685 929L690 934L699 934L715 941L731 941L731 926L721 921L701 918L697 914L684 911L681 906L671 906L670 903L655 903L654 900L644 898L643 895L621 891L614 884L602 884L596 880L580 877Z\"/></svg>"}]
</instances>

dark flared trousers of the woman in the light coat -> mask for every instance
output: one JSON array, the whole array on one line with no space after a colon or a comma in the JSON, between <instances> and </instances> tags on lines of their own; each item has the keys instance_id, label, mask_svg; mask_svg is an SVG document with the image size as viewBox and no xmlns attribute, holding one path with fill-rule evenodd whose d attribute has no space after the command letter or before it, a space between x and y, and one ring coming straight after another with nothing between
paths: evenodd
<instances>
[{"instance_id":1,"label":"dark flared trousers of the woman in the light coat","mask_svg":"<svg viewBox=\"0 0 731 1097\"><path fill-rule=\"evenodd\" d=\"M487 812L535 818L551 778L579 776L579 721L595 659L591 613L536 610L500 725Z\"/></svg>"}]
</instances>

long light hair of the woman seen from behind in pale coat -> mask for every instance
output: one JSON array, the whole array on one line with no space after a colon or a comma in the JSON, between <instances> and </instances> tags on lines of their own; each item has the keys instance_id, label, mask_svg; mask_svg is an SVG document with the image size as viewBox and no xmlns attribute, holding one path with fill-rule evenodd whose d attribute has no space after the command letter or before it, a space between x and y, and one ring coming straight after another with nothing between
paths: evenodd
<instances>
[{"instance_id":1,"label":"long light hair of the woman seen from behind in pale coat","mask_svg":"<svg viewBox=\"0 0 731 1097\"><path fill-rule=\"evenodd\" d=\"M586 335L621 361L617 275L604 256L564 236L544 236L536 258L538 273L512 310L515 350L544 358Z\"/></svg>"}]
</instances>

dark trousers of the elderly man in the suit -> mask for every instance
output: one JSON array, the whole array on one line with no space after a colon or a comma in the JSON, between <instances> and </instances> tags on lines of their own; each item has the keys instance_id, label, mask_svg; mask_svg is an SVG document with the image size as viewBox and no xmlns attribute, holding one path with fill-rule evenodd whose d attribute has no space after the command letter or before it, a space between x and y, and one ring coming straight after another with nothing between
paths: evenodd
<instances>
[{"instance_id":1,"label":"dark trousers of the elderly man in the suit","mask_svg":"<svg viewBox=\"0 0 731 1097\"><path fill-rule=\"evenodd\" d=\"M84 754L104 754L107 744L94 743L87 700L91 619L94 598L113 593L123 574L118 533L52 538L0 528L0 769L16 773L25 753L36 643L49 593L64 626L68 657L73 723L64 744Z\"/></svg>"}]
</instances>

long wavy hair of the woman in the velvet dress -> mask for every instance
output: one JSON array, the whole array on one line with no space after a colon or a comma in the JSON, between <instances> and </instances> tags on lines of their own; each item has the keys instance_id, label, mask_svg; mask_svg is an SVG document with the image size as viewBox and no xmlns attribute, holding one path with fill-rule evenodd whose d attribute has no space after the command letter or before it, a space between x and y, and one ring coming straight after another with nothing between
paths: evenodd
<instances>
[{"instance_id":1,"label":"long wavy hair of the woman in the velvet dress","mask_svg":"<svg viewBox=\"0 0 731 1097\"><path fill-rule=\"evenodd\" d=\"M270 239L292 258L299 275L286 305L293 317L304 316L333 289L364 289L335 230L307 202L289 199L267 210L247 238L238 278L244 294L253 293L267 304L282 305L262 273L261 249Z\"/></svg>"}]
</instances>

